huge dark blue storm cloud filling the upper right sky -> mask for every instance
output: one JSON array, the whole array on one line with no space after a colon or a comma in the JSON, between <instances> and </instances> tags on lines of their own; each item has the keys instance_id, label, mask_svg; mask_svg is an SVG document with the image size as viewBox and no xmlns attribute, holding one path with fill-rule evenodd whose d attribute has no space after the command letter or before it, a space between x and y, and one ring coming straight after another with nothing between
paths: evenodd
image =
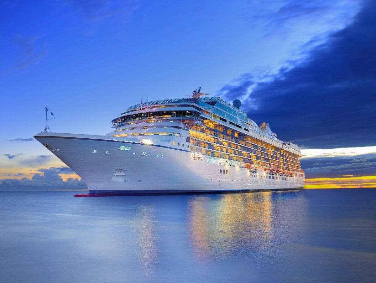
<instances>
[{"instance_id":1,"label":"huge dark blue storm cloud filling the upper right sky","mask_svg":"<svg viewBox=\"0 0 376 283\"><path fill-rule=\"evenodd\" d=\"M249 95L256 108L249 107L249 117L257 123L264 118L280 139L307 148L374 145L375 11L376 2L364 2L349 26L314 47L294 67L258 83ZM236 88L226 87L235 97ZM240 88L238 95L243 93Z\"/></svg>"}]
</instances>

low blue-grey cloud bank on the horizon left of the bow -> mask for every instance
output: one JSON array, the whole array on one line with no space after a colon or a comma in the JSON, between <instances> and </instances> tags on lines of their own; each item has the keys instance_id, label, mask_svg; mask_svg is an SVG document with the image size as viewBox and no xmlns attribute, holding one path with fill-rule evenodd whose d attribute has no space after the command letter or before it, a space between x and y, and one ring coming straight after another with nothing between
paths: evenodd
<instances>
[{"instance_id":1,"label":"low blue-grey cloud bank on the horizon left of the bow","mask_svg":"<svg viewBox=\"0 0 376 283\"><path fill-rule=\"evenodd\" d=\"M74 174L74 171L67 167L50 167L38 169L41 174L35 174L32 179L0 179L0 190L61 190L61 189L86 189L85 182L78 178L69 178L66 181L59 175ZM22 173L14 176L21 176Z\"/></svg>"}]
</instances>

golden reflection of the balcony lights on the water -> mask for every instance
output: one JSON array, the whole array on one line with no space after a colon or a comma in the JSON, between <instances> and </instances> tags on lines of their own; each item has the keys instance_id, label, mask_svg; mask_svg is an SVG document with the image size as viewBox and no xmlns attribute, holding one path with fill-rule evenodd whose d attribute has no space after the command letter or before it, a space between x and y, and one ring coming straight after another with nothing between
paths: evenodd
<instances>
[{"instance_id":1,"label":"golden reflection of the balcony lights on the water","mask_svg":"<svg viewBox=\"0 0 376 283\"><path fill-rule=\"evenodd\" d=\"M215 201L208 197L191 200L188 224L197 259L228 256L239 245L273 238L271 194L223 194Z\"/></svg>"}]
</instances>

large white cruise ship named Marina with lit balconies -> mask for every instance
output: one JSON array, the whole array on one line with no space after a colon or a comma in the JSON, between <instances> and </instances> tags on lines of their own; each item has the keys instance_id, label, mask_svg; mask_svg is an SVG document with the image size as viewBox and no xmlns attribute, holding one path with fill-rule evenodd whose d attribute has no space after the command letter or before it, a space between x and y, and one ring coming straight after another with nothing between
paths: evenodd
<instances>
[{"instance_id":1,"label":"large white cruise ship named Marina with lit balconies","mask_svg":"<svg viewBox=\"0 0 376 283\"><path fill-rule=\"evenodd\" d=\"M89 195L303 188L297 145L258 126L239 100L203 95L141 101L103 136L45 130L34 138L76 171Z\"/></svg>"}]
</instances>

